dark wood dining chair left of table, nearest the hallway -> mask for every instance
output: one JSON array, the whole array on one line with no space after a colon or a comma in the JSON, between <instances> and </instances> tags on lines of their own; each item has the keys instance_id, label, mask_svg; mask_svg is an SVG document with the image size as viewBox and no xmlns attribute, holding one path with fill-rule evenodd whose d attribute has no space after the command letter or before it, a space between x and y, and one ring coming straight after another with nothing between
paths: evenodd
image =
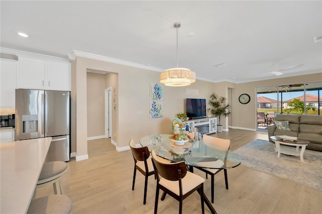
<instances>
[{"instance_id":1,"label":"dark wood dining chair left of table, nearest the hallway","mask_svg":"<svg viewBox=\"0 0 322 214\"><path fill-rule=\"evenodd\" d=\"M129 146L131 148L133 159L134 159L132 190L134 190L135 175L136 175L136 170L138 170L139 172L141 172L145 176L144 196L143 196L143 204L145 204L146 203L147 179L148 179L148 176L154 175L150 152L146 146L145 147L136 147L133 139L130 140ZM154 176L154 178L155 178L155 176Z\"/></svg>"}]
</instances>

